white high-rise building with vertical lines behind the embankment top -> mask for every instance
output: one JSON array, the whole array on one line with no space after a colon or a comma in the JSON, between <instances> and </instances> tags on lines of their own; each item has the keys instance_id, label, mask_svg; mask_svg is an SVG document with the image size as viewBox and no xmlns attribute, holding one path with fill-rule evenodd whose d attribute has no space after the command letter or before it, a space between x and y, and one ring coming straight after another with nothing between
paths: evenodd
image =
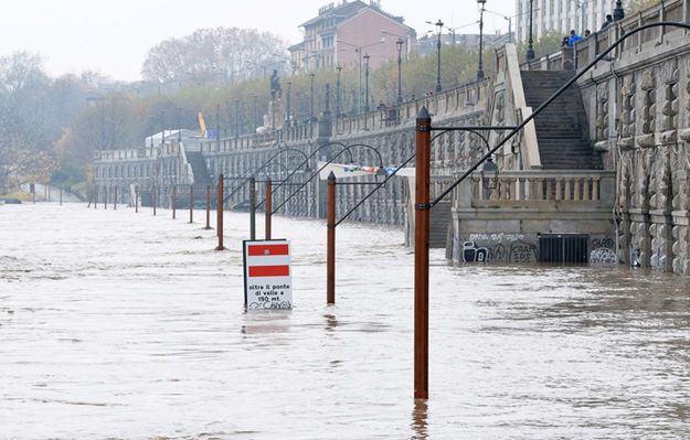
<instances>
[{"instance_id":1,"label":"white high-rise building with vertical lines behind the embankment top","mask_svg":"<svg viewBox=\"0 0 690 440\"><path fill-rule=\"evenodd\" d=\"M551 30L563 36L571 29L583 34L586 29L598 31L606 14L614 13L615 0L532 0L532 33L534 40ZM527 41L530 32L530 0L516 0L517 41Z\"/></svg>"}]
</instances>

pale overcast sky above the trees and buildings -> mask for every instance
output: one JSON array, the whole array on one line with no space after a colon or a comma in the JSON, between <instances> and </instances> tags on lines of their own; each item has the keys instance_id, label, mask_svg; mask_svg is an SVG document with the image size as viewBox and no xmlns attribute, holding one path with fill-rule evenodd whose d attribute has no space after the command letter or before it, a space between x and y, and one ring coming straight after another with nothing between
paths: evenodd
<instances>
[{"instance_id":1,"label":"pale overcast sky above the trees and buildings","mask_svg":"<svg viewBox=\"0 0 690 440\"><path fill-rule=\"evenodd\" d=\"M340 0L337 0L338 2ZM368 0L365 0L368 1ZM298 25L318 13L326 0L0 0L0 55L15 50L41 53L50 74L98 71L116 79L140 77L148 49L200 28L252 28L300 40ZM475 0L382 0L423 33L426 21L442 19L478 33ZM514 0L487 0L487 10L513 15ZM466 26L465 26L466 25ZM507 21L485 15L485 32L506 32Z\"/></svg>"}]
</instances>

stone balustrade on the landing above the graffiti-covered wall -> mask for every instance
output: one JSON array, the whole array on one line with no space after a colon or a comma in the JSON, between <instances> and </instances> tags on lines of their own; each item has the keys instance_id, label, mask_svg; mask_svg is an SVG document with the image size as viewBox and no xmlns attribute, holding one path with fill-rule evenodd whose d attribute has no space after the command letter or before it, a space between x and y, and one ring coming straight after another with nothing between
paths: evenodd
<instances>
[{"instance_id":1,"label":"stone balustrade on the landing above the graffiti-covered wall","mask_svg":"<svg viewBox=\"0 0 690 440\"><path fill-rule=\"evenodd\" d=\"M458 206L493 205L497 202L581 202L612 204L615 171L510 171L498 179L475 173L456 191ZM485 187L485 182L491 189Z\"/></svg>"}]
</instances>

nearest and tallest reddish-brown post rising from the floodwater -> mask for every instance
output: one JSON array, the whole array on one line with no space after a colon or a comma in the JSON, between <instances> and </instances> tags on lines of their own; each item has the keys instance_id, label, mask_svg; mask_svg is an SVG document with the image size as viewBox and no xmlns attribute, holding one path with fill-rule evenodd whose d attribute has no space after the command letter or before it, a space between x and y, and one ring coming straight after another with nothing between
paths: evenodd
<instances>
[{"instance_id":1,"label":"nearest and tallest reddish-brown post rising from the floodwater","mask_svg":"<svg viewBox=\"0 0 690 440\"><path fill-rule=\"evenodd\" d=\"M428 398L428 229L432 117L422 107L416 120L414 204L414 397Z\"/></svg>"}]
</instances>

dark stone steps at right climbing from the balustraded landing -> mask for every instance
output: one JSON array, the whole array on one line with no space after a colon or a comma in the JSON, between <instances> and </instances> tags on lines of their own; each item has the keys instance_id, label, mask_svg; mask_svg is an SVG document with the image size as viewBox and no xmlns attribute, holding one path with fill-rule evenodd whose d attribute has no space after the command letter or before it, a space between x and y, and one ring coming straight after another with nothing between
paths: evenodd
<instances>
[{"instance_id":1,"label":"dark stone steps at right climbing from the balustraded landing","mask_svg":"<svg viewBox=\"0 0 690 440\"><path fill-rule=\"evenodd\" d=\"M522 71L527 105L537 109L573 75L566 71ZM602 158L587 136L580 89L573 85L534 118L544 170L601 170Z\"/></svg>"}]
</instances>

